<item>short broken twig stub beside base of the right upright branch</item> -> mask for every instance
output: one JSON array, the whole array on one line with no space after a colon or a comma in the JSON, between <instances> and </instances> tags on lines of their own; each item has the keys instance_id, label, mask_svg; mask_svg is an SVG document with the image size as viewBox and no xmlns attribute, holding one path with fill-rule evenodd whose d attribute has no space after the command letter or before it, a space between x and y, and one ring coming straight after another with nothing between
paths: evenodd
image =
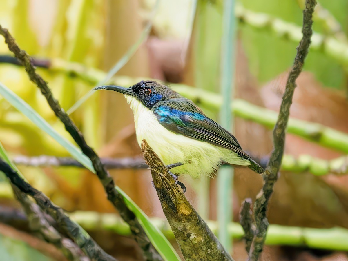
<instances>
[{"instance_id":1,"label":"short broken twig stub beside base of the right upright branch","mask_svg":"<svg viewBox=\"0 0 348 261\"><path fill-rule=\"evenodd\" d=\"M244 230L244 238L245 238L245 249L246 252L249 253L251 243L253 242L253 238L255 235L255 222L253 220L251 204L253 201L251 198L246 198L240 207L239 212L239 223L242 225Z\"/></svg>"}]
</instances>

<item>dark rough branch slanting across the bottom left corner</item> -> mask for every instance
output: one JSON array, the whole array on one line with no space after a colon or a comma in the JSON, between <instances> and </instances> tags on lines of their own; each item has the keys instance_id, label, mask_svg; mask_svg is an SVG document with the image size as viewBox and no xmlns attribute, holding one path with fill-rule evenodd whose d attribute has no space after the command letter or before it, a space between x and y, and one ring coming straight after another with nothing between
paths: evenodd
<instances>
[{"instance_id":1,"label":"dark rough branch slanting across the bottom left corner","mask_svg":"<svg viewBox=\"0 0 348 261\"><path fill-rule=\"evenodd\" d=\"M34 189L29 183L25 182L22 177L20 177L18 173L14 169L12 169L2 158L0 158L0 171L5 173L11 183L14 184L21 192L33 197L40 208L42 210L45 210L50 216L53 217L62 232L64 232L64 234L68 235L72 240L74 240L74 242L91 260L115 260L112 256L106 254L84 229L82 229L76 222L70 220L70 218L64 214L63 210L60 207L54 205L44 193L37 189ZM18 194L18 196L19 199L22 199L22 195ZM23 198L23 200L26 199ZM27 203L27 201L25 202ZM34 208L27 210L34 211ZM44 224L43 226L46 227L47 224ZM49 231L47 230L43 232L49 233Z\"/></svg>"}]
</instances>

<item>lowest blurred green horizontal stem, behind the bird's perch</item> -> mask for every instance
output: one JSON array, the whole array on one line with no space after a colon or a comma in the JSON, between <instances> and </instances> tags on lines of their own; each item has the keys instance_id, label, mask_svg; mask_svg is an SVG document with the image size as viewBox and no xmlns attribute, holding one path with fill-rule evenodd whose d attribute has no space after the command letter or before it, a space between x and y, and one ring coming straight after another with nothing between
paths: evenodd
<instances>
[{"instance_id":1,"label":"lowest blurred green horizontal stem, behind the bird's perch","mask_svg":"<svg viewBox=\"0 0 348 261\"><path fill-rule=\"evenodd\" d=\"M72 213L70 217L86 230L103 229L124 236L130 235L127 224L115 214L78 211ZM151 222L168 239L174 239L173 231L166 220L152 217ZM217 222L208 220L207 224L214 234L216 234L218 229ZM228 225L228 235L231 239L242 239L244 236L242 226L237 222L230 222ZM345 228L302 228L271 224L266 236L266 244L308 246L311 248L348 251L347 238L348 229Z\"/></svg>"}]
</instances>

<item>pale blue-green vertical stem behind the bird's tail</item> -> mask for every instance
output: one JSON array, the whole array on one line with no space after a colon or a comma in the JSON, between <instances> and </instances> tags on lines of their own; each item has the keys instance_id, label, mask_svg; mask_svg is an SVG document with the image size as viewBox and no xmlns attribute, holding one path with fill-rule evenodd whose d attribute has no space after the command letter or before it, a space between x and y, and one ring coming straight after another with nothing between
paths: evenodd
<instances>
[{"instance_id":1,"label":"pale blue-green vertical stem behind the bird's tail","mask_svg":"<svg viewBox=\"0 0 348 261\"><path fill-rule=\"evenodd\" d=\"M235 74L235 0L224 0L223 24L221 41L221 94L223 103L220 111L221 125L230 130L233 129L233 117L231 115L231 97L234 86ZM231 239L228 235L228 223L232 219L232 192L233 192L232 167L221 168L217 177L217 219L219 222L220 242L229 249Z\"/></svg>"}]
</instances>

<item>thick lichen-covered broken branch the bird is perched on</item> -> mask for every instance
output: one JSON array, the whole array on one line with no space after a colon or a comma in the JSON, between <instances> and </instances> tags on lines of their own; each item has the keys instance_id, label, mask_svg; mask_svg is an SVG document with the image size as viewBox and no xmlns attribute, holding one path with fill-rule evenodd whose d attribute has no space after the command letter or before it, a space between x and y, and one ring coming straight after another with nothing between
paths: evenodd
<instances>
[{"instance_id":1,"label":"thick lichen-covered broken branch the bird is perched on","mask_svg":"<svg viewBox=\"0 0 348 261\"><path fill-rule=\"evenodd\" d=\"M233 260L205 221L177 187L168 169L143 140L142 151L150 166L163 212L187 260Z\"/></svg>"}]
</instances>

